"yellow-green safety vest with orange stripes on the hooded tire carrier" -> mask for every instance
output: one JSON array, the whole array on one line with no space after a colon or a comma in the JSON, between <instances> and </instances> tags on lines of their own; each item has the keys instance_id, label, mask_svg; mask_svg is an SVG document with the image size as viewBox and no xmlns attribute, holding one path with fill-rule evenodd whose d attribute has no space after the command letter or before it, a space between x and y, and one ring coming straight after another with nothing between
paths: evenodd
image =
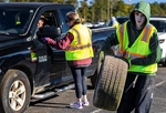
<instances>
[{"instance_id":1,"label":"yellow-green safety vest with orange stripes on the hooded tire carrier","mask_svg":"<svg viewBox=\"0 0 166 113\"><path fill-rule=\"evenodd\" d=\"M151 54L149 50L149 39L154 32L157 30L152 25L147 24L142 33L138 35L136 41L131 48L128 48L128 34L126 29L127 22L122 24L120 29L116 30L117 39L120 42L120 56L123 56L127 60L133 60L136 58L146 58ZM128 72L141 72L141 73L155 73L157 71L157 63L149 65L134 65L132 64L128 69Z\"/></svg>"}]
</instances>

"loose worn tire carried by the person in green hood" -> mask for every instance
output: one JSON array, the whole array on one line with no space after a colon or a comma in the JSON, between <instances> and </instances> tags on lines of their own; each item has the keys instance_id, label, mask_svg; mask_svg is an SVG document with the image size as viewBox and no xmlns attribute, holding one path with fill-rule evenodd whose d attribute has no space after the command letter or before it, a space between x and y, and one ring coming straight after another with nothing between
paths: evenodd
<instances>
[{"instance_id":1,"label":"loose worn tire carried by the person in green hood","mask_svg":"<svg viewBox=\"0 0 166 113\"><path fill-rule=\"evenodd\" d=\"M105 55L101 65L93 95L93 105L107 111L116 111L124 90L127 63L112 55Z\"/></svg>"}]
</instances>

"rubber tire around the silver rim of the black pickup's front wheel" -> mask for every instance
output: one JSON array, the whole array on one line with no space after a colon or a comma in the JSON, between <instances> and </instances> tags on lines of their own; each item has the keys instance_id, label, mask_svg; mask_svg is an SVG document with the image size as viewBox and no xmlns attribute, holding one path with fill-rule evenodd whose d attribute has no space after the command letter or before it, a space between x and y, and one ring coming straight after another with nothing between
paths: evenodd
<instances>
[{"instance_id":1,"label":"rubber tire around the silver rim of the black pickup's front wheel","mask_svg":"<svg viewBox=\"0 0 166 113\"><path fill-rule=\"evenodd\" d=\"M19 111L12 110L9 103L9 91L13 82L15 81L21 81L24 86L25 86L25 100L22 105L22 107ZM4 81L1 86L1 103L3 105L3 110L6 113L22 113L25 111L30 103L30 95L31 95L31 90L30 90L30 82L27 75L19 70L12 70L11 72L7 72L4 76Z\"/></svg>"}]
</instances>

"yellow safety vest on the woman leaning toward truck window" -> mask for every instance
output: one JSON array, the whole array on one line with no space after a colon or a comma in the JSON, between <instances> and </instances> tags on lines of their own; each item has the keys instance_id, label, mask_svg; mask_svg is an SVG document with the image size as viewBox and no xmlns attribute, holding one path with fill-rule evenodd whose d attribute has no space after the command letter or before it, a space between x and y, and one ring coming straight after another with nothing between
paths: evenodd
<instances>
[{"instance_id":1,"label":"yellow safety vest on the woman leaning toward truck window","mask_svg":"<svg viewBox=\"0 0 166 113\"><path fill-rule=\"evenodd\" d=\"M70 47L65 49L66 60L93 58L91 30L82 24L75 24L69 32L73 34L74 39Z\"/></svg>"}]
</instances>

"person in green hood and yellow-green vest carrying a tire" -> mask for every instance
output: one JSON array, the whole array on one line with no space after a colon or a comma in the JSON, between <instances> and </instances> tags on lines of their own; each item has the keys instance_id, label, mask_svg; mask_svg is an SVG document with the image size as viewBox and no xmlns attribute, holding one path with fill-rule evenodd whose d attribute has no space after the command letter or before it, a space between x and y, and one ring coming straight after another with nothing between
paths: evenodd
<instances>
[{"instance_id":1,"label":"person in green hood and yellow-green vest carrying a tire","mask_svg":"<svg viewBox=\"0 0 166 113\"><path fill-rule=\"evenodd\" d=\"M153 82L160 60L157 30L149 23L151 6L139 1L129 20L106 39L102 50L120 44L120 56L128 62L124 93L117 113L149 113Z\"/></svg>"}]
</instances>

